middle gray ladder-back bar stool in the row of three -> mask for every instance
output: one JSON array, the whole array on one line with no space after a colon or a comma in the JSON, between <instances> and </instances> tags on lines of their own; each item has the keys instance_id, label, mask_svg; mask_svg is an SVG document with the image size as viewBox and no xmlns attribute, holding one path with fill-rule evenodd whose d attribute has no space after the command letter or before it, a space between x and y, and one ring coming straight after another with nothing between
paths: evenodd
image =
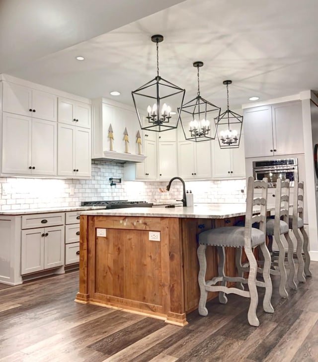
<instances>
[{"instance_id":1,"label":"middle gray ladder-back bar stool in the row of three","mask_svg":"<svg viewBox=\"0 0 318 362\"><path fill-rule=\"evenodd\" d=\"M288 243L288 264L289 264L289 277L288 286L292 289L297 289L294 280L295 264L293 259L293 242L289 236L289 180L277 180L276 185L276 201L275 201L275 218L267 219L266 221L266 235L274 237L279 250L278 264L277 257L274 258L270 274L280 275L279 295L283 298L288 297L286 290L287 273L285 268L285 247L284 239Z\"/></svg>"}]
</instances>

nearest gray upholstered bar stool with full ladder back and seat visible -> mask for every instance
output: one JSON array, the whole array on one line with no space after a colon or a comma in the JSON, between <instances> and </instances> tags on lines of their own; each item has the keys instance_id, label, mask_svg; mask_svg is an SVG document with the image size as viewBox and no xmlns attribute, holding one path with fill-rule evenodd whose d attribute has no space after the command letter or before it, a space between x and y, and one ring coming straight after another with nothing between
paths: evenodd
<instances>
[{"instance_id":1,"label":"nearest gray upholstered bar stool with full ladder back and seat visible","mask_svg":"<svg viewBox=\"0 0 318 362\"><path fill-rule=\"evenodd\" d=\"M262 188L262 197L254 198L254 188ZM263 299L263 308L265 312L273 313L274 309L271 305L272 282L269 275L270 270L270 254L265 243L265 224L266 224L266 202L267 202L267 179L263 181L254 181L252 177L247 181L247 197L246 197L246 215L245 226L225 226L207 230L199 234L199 247L197 250L200 270L199 270L199 314L202 316L208 315L206 301L208 291L218 291L220 303L227 303L228 299L225 294L238 294L243 297L250 298L247 319L250 325L258 327L259 320L256 316L256 308L258 304L258 293L256 286L265 287L265 295ZM255 210L253 206L259 205L258 215L253 215ZM252 228L252 223L259 222L259 229ZM260 245L264 255L263 279L264 281L256 280L257 264L253 254L253 249ZM219 255L218 274L211 280L205 280L207 270L206 248L207 246L216 246ZM249 272L248 278L230 277L225 275L225 247L244 248L248 260ZM237 287L227 287L227 281L243 283L248 285L249 290L242 290ZM221 285L216 285L218 282Z\"/></svg>"}]
</instances>

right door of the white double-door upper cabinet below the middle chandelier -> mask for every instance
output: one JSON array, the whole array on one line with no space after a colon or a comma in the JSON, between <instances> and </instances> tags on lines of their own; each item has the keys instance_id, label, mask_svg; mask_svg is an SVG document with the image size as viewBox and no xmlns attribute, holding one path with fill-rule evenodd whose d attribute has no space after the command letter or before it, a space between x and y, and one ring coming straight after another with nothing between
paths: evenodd
<instances>
[{"instance_id":1,"label":"right door of the white double-door upper cabinet below the middle chandelier","mask_svg":"<svg viewBox=\"0 0 318 362\"><path fill-rule=\"evenodd\" d=\"M212 165L211 165L211 142L197 142L195 153L195 178L206 179L211 178Z\"/></svg>"}]
</instances>

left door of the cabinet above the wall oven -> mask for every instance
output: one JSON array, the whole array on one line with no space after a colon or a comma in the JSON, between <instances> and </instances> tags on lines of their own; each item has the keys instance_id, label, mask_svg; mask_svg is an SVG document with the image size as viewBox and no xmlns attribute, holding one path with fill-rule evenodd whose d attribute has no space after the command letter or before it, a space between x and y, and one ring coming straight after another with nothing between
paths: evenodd
<instances>
[{"instance_id":1,"label":"left door of the cabinet above the wall oven","mask_svg":"<svg viewBox=\"0 0 318 362\"><path fill-rule=\"evenodd\" d=\"M244 110L245 157L273 156L273 128L271 106Z\"/></svg>"}]
</instances>

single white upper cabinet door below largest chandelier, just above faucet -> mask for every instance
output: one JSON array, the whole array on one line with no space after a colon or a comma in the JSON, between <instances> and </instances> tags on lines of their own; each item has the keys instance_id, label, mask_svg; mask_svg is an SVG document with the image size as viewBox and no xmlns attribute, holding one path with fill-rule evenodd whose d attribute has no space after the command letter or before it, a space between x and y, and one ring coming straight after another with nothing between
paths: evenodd
<instances>
[{"instance_id":1,"label":"single white upper cabinet door below largest chandelier, just above faucet","mask_svg":"<svg viewBox=\"0 0 318 362\"><path fill-rule=\"evenodd\" d=\"M164 133L164 132L163 132ZM159 180L169 180L177 176L176 141L158 143Z\"/></svg>"}]
</instances>

